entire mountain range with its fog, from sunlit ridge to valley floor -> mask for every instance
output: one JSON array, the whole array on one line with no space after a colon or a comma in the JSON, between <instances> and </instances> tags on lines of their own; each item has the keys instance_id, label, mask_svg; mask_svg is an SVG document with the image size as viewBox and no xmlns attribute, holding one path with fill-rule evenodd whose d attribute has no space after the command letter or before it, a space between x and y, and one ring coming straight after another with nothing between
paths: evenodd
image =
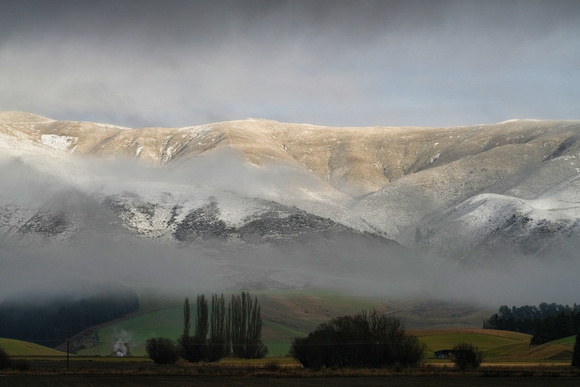
<instances>
[{"instance_id":1,"label":"entire mountain range with its fog, from sunlit ridge to valley floor","mask_svg":"<svg viewBox=\"0 0 580 387\"><path fill-rule=\"evenodd\" d=\"M0 113L0 292L113 281L572 303L579 134L577 121L131 129Z\"/></svg>"}]
</instances>

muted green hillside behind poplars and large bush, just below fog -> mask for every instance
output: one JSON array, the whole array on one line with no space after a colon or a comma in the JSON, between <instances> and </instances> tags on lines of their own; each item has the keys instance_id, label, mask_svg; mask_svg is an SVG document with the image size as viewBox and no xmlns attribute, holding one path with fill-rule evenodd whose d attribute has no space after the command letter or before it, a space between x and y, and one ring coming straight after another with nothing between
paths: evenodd
<instances>
[{"instance_id":1,"label":"muted green hillside behind poplars and large bush, just below fog","mask_svg":"<svg viewBox=\"0 0 580 387\"><path fill-rule=\"evenodd\" d=\"M363 309L377 308L394 313L411 326L422 326L427 321L447 326L453 321L459 326L473 327L474 324L480 324L489 313L465 305L385 301L330 290L267 290L251 294L258 297L261 306L264 323L262 339L271 356L286 355L292 338L308 334L320 323ZM194 299L194 296L191 295L190 299ZM148 338L162 336L176 340L181 335L182 303L182 299L143 297L139 312L127 319L99 327L96 331L98 342L78 353L85 356L108 356L115 341L124 337L130 343L133 355L144 356L144 343ZM192 304L192 316L195 316L195 302Z\"/></svg>"}]
</instances>

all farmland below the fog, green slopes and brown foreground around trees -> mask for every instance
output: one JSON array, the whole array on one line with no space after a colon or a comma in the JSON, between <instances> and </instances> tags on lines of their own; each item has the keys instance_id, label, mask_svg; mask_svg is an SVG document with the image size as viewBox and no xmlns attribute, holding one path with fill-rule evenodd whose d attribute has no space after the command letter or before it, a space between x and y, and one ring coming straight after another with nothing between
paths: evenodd
<instances>
[{"instance_id":1,"label":"all farmland below the fog, green slopes and brown foreground around trees","mask_svg":"<svg viewBox=\"0 0 580 387\"><path fill-rule=\"evenodd\" d=\"M90 347L71 354L18 340L0 339L0 346L15 359L30 362L30 370L4 370L0 386L27 385L320 385L332 380L336 386L365 384L393 386L549 386L577 385L580 372L569 366L574 337L530 346L530 335L476 329L487 311L464 305L404 304L356 296L337 297L331 292L280 291L257 293L264 319L263 339L270 348L265 359L222 359L219 363L191 364L180 360L158 366L144 356L150 337L175 340L182 333L181 301L144 299L141 309L125 318L95 327L82 337L92 337ZM377 308L403 316L412 326L409 333L425 344L425 363L419 368L399 369L303 369L286 357L292 338L303 336L329 319ZM446 309L447 308L447 309ZM446 326L453 314L455 326ZM437 321L441 327L421 328L421 320ZM471 326L471 327L470 327ZM113 357L112 344L130 343L130 356ZM469 342L484 352L477 370L461 373L434 352ZM557 377L556 377L557 376ZM275 378L275 379L274 379Z\"/></svg>"}]
</instances>

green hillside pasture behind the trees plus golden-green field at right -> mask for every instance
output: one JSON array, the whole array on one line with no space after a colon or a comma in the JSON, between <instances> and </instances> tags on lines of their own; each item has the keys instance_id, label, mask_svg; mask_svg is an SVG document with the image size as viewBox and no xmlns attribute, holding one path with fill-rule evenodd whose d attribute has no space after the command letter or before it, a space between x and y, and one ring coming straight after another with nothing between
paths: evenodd
<instances>
[{"instance_id":1,"label":"green hillside pasture behind the trees plus golden-green field at right","mask_svg":"<svg viewBox=\"0 0 580 387\"><path fill-rule=\"evenodd\" d=\"M334 317L352 315L371 308L402 317L397 313L398 308L409 309L402 303L388 303L387 308L387 303L383 299L347 296L331 290L265 290L252 291L250 294L258 297L260 303L263 320L262 340L269 348L269 357L286 356L293 338L307 335L319 324ZM195 320L196 313L195 296L188 295L192 320ZM206 297L210 298L211 295L206 294ZM229 300L230 295L225 297ZM183 299L143 295L140 298L139 311L124 319L96 327L94 335L98 340L96 345L79 350L77 354L109 358L115 341L118 338L125 338L130 345L131 355L139 357L146 356L145 341L151 337L177 340L183 332ZM450 312L462 313L472 319L474 313L477 313L469 308L463 310L454 308L453 305L442 305L441 309L439 306L424 303L411 309L428 313L436 319ZM406 319L405 317L403 318ZM428 362L440 362L433 359L434 351L451 349L460 342L472 343L483 350L486 362L569 361L574 342L574 337L570 337L530 347L530 335L471 328L410 329L409 333L416 335L425 343Z\"/></svg>"}]
</instances>

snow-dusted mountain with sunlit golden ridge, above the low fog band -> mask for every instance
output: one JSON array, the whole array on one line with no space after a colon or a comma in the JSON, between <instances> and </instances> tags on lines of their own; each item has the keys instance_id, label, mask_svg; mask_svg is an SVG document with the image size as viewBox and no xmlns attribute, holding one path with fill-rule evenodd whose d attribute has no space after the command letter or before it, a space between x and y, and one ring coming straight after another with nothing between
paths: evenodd
<instances>
[{"instance_id":1,"label":"snow-dusted mountain with sunlit golden ridge, above the low fog band","mask_svg":"<svg viewBox=\"0 0 580 387\"><path fill-rule=\"evenodd\" d=\"M284 251L286 274L304 257L320 267L332 260L337 278L377 256L577 259L579 139L574 121L331 128L248 119L131 129L4 112L0 235L203 250L230 279L244 272L236 249L261 251L246 268ZM264 269L256 281L288 285L286 274Z\"/></svg>"}]
</instances>

